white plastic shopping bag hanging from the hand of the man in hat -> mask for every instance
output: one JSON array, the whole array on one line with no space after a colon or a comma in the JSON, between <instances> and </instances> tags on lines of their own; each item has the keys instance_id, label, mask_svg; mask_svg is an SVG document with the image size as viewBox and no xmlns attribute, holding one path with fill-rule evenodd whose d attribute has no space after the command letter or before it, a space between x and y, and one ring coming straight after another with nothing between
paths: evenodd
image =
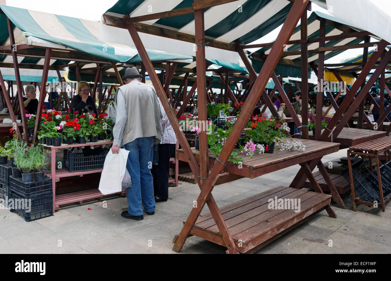
<instances>
[{"instance_id":1,"label":"white plastic shopping bag hanging from the hand of the man in hat","mask_svg":"<svg viewBox=\"0 0 391 281\"><path fill-rule=\"evenodd\" d=\"M104 160L102 175L100 176L99 191L103 195L122 191L122 181L131 186L131 178L126 169L129 151L120 149L118 154L109 150ZM129 187L126 186L126 187Z\"/></svg>"}]
</instances>

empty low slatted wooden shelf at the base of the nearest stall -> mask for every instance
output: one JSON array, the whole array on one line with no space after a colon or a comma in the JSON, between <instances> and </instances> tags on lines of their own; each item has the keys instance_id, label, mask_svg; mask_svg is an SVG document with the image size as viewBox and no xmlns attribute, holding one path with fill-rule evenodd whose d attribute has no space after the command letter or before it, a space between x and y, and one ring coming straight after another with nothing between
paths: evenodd
<instances>
[{"instance_id":1,"label":"empty low slatted wooden shelf at the base of the nearest stall","mask_svg":"<svg viewBox=\"0 0 391 281\"><path fill-rule=\"evenodd\" d=\"M300 210L269 209L269 198L300 199ZM241 253L255 252L330 204L331 195L278 186L220 208ZM298 200L296 201L298 203ZM185 222L184 222L185 223ZM211 213L200 215L190 234L224 245Z\"/></svg>"}]
</instances>

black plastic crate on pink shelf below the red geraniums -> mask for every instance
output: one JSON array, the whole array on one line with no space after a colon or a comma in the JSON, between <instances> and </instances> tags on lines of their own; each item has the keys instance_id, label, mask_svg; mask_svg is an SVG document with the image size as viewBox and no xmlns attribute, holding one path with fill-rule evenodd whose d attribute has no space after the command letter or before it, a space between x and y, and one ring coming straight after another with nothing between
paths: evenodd
<instances>
[{"instance_id":1,"label":"black plastic crate on pink shelf below the red geraniums","mask_svg":"<svg viewBox=\"0 0 391 281\"><path fill-rule=\"evenodd\" d=\"M64 168L68 172L103 169L104 159L106 159L108 152L108 149L101 147L95 149L86 147L82 152L64 149Z\"/></svg>"}]
</instances>

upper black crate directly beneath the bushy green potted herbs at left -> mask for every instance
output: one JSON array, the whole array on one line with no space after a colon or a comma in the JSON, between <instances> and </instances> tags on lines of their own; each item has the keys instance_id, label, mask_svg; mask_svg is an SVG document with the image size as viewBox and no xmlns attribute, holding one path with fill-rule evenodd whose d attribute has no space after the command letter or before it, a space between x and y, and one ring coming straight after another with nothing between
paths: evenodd
<instances>
[{"instance_id":1,"label":"upper black crate directly beneath the bushy green potted herbs at left","mask_svg":"<svg viewBox=\"0 0 391 281\"><path fill-rule=\"evenodd\" d=\"M15 179L10 177L9 189L11 192L18 193L26 198L32 196L45 196L53 192L52 178L45 177L43 181L30 181L24 183L22 178Z\"/></svg>"}]
</instances>

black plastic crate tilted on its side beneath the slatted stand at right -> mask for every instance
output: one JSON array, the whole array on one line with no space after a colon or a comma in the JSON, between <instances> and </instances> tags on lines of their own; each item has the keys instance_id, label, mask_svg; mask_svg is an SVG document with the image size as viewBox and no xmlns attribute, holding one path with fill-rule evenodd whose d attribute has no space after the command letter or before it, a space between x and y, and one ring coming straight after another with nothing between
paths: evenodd
<instances>
[{"instance_id":1,"label":"black plastic crate tilted on its side beneath the slatted stand at right","mask_svg":"<svg viewBox=\"0 0 391 281\"><path fill-rule=\"evenodd\" d=\"M367 202L380 202L380 190L377 177L368 170L364 160L352 164L353 186L361 200ZM341 175L350 183L349 168L343 170Z\"/></svg>"}]
</instances>

